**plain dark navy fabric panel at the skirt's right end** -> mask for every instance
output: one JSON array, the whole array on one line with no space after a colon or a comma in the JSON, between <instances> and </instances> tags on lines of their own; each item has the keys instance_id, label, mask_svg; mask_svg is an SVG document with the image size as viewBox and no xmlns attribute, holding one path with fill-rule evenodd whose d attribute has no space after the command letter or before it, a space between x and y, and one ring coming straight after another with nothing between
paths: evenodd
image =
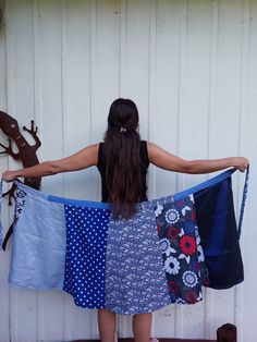
<instances>
[{"instance_id":1,"label":"plain dark navy fabric panel at the skirt's right end","mask_svg":"<svg viewBox=\"0 0 257 342\"><path fill-rule=\"evenodd\" d=\"M244 280L231 178L196 192L194 197L209 286L229 289Z\"/></svg>"}]
</instances>

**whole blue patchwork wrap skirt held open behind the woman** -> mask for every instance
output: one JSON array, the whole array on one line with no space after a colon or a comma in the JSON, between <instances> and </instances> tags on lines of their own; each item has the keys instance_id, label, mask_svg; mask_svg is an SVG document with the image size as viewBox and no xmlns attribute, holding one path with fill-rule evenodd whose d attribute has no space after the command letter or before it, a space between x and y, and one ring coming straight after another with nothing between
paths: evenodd
<instances>
[{"instance_id":1,"label":"whole blue patchwork wrap skirt held open behind the woman","mask_svg":"<svg viewBox=\"0 0 257 342\"><path fill-rule=\"evenodd\" d=\"M50 196L16 183L9 281L22 289L60 289L83 308L124 315L197 303L203 284L236 284L243 264L233 172L143 201L130 220L114 220L109 204Z\"/></svg>"}]
</instances>

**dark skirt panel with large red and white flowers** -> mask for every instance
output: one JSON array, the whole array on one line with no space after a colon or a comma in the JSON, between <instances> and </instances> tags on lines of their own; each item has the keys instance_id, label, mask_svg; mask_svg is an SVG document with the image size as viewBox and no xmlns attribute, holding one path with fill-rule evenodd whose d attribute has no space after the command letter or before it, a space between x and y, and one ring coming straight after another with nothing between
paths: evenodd
<instances>
[{"instance_id":1,"label":"dark skirt panel with large red and white flowers","mask_svg":"<svg viewBox=\"0 0 257 342\"><path fill-rule=\"evenodd\" d=\"M158 203L157 229L171 303L201 301L201 284L208 280L195 219L194 197Z\"/></svg>"}]
</instances>

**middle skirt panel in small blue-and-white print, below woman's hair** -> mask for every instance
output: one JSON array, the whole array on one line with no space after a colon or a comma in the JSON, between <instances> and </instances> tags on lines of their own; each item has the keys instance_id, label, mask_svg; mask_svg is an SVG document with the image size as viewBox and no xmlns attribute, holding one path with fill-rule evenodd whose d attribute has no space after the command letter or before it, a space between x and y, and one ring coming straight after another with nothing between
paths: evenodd
<instances>
[{"instance_id":1,"label":"middle skirt panel in small blue-and-white print, below woman's hair","mask_svg":"<svg viewBox=\"0 0 257 342\"><path fill-rule=\"evenodd\" d=\"M106 308L134 315L171 303L155 217L155 201L137 205L131 219L110 219Z\"/></svg>"}]
</instances>

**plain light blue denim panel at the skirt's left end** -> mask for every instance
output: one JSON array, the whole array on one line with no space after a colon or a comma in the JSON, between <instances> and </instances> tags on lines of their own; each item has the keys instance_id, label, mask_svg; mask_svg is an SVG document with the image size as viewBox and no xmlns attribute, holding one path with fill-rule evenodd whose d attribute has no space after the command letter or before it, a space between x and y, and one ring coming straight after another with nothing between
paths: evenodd
<instances>
[{"instance_id":1,"label":"plain light blue denim panel at the skirt's left end","mask_svg":"<svg viewBox=\"0 0 257 342\"><path fill-rule=\"evenodd\" d=\"M13 234L9 282L23 289L62 290L66 244L63 205L23 184L17 186L26 198Z\"/></svg>"}]
</instances>

